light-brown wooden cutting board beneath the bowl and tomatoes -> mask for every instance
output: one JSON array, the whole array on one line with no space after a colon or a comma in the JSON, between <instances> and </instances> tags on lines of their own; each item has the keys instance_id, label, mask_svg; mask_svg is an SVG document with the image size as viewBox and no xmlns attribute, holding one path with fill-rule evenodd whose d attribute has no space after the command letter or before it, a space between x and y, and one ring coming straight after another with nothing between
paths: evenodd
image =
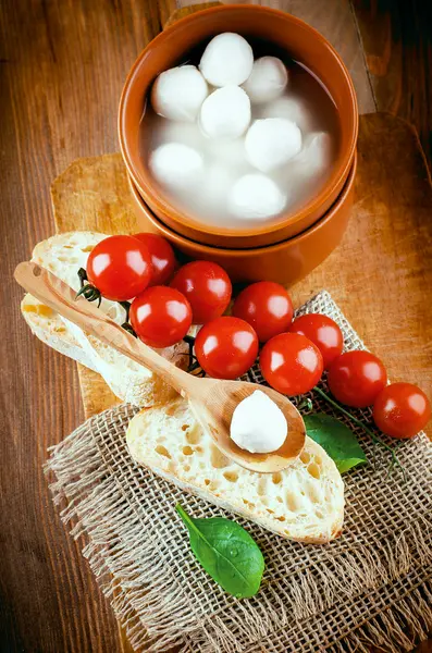
<instances>
[{"instance_id":1,"label":"light-brown wooden cutting board beneath the bowl and tomatoes","mask_svg":"<svg viewBox=\"0 0 432 653\"><path fill-rule=\"evenodd\" d=\"M340 247L292 288L295 306L326 288L393 380L432 394L432 194L414 130L390 114L360 116L356 200ZM52 184L58 232L134 233L137 222L120 153L74 161ZM86 416L118 403L78 366Z\"/></svg>"}]
</instances>

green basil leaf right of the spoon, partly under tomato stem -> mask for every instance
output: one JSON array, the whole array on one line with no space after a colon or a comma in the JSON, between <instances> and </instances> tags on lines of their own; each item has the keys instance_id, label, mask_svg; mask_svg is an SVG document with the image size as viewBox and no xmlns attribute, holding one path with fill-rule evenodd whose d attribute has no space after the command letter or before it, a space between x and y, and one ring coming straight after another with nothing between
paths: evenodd
<instances>
[{"instance_id":1,"label":"green basil leaf right of the spoon, partly under tomato stem","mask_svg":"<svg viewBox=\"0 0 432 653\"><path fill-rule=\"evenodd\" d=\"M368 461L353 431L338 419L317 412L306 415L304 420L309 438L333 458L341 473Z\"/></svg>"}]
</instances>

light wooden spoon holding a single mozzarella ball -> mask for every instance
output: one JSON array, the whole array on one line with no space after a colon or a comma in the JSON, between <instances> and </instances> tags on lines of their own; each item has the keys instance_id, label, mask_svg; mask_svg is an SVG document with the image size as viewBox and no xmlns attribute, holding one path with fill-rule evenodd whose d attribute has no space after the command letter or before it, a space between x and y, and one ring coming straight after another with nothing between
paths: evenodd
<instances>
[{"instance_id":1,"label":"light wooden spoon holding a single mozzarella ball","mask_svg":"<svg viewBox=\"0 0 432 653\"><path fill-rule=\"evenodd\" d=\"M305 444L305 424L300 414L285 396L275 390L245 381L201 379L178 369L96 306L79 297L58 276L37 263L23 262L15 269L15 279L34 297L59 315L74 322L83 331L118 349L128 358L164 377L185 398L202 429L208 431L218 448L229 458L259 472L275 472L288 467ZM288 434L284 444L270 454L250 454L230 438L230 426L237 404L256 390L264 392L285 415Z\"/></svg>"}]
</instances>

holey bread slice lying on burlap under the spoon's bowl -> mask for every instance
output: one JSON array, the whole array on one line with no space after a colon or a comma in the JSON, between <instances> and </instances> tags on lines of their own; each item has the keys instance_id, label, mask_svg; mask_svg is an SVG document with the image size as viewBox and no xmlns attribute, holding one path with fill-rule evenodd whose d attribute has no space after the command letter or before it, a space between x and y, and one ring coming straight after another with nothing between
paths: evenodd
<instances>
[{"instance_id":1,"label":"holey bread slice lying on burlap under the spoon's bowl","mask_svg":"<svg viewBox=\"0 0 432 653\"><path fill-rule=\"evenodd\" d=\"M323 544L342 531L343 480L333 460L310 438L287 469L255 473L221 454L187 402L176 398L138 412L129 422L126 442L140 465L283 538Z\"/></svg>"}]
</instances>

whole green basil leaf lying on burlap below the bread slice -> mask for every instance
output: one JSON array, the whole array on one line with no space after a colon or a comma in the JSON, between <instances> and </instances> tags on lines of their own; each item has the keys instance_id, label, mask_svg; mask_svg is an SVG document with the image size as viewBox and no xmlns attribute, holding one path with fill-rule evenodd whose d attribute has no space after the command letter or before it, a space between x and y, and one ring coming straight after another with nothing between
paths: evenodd
<instances>
[{"instance_id":1,"label":"whole green basil leaf lying on burlap below the bread slice","mask_svg":"<svg viewBox=\"0 0 432 653\"><path fill-rule=\"evenodd\" d=\"M237 599L259 590L264 558L244 528L223 517L194 519L175 506L189 531L190 547L198 562L224 590Z\"/></svg>"}]
</instances>

